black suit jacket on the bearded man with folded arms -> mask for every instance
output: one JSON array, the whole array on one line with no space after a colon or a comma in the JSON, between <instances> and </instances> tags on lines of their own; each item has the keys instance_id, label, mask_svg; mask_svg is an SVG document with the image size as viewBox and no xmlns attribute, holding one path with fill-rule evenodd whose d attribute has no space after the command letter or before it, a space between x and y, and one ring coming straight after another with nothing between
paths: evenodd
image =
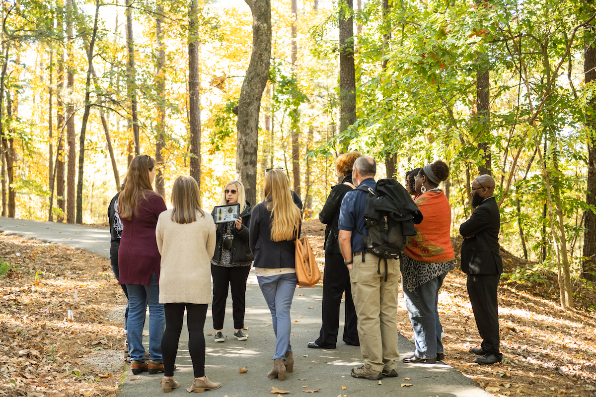
<instances>
[{"instance_id":1,"label":"black suit jacket on the bearded man with folded arms","mask_svg":"<svg viewBox=\"0 0 596 397\"><path fill-rule=\"evenodd\" d=\"M464 238L461 245L461 270L467 274L501 274L503 261L499 254L501 215L496 199L490 197L480 204L470 219L460 226Z\"/></svg>"}]
</instances>

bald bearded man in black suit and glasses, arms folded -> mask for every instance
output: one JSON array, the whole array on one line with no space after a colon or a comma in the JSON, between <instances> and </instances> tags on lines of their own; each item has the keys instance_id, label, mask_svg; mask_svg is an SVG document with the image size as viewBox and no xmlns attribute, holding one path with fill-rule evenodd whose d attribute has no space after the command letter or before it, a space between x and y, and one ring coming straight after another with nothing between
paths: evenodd
<instances>
[{"instance_id":1,"label":"bald bearded man in black suit and glasses, arms folded","mask_svg":"<svg viewBox=\"0 0 596 397\"><path fill-rule=\"evenodd\" d=\"M476 318L482 345L471 350L481 355L474 362L481 365L501 362L499 352L499 314L496 289L503 272L499 254L499 229L501 217L496 205L495 180L481 175L472 182L472 207L476 208L470 219L460 226L464 236L461 245L461 270L468 275L468 295Z\"/></svg>"}]
</instances>

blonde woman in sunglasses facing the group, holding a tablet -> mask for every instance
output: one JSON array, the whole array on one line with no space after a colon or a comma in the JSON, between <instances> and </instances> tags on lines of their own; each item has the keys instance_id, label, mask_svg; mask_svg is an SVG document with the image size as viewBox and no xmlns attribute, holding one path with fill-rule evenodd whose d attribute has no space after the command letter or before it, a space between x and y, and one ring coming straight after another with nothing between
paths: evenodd
<instances>
[{"instance_id":1,"label":"blonde woman in sunglasses facing the group, holding a tablet","mask_svg":"<svg viewBox=\"0 0 596 397\"><path fill-rule=\"evenodd\" d=\"M249 277L253 253L249 248L250 202L244 196L244 185L231 180L225 185L221 205L240 205L240 216L232 222L218 223L215 255L211 260L213 277L213 301L211 304L215 342L224 342L225 302L228 299L228 286L232 290L232 317L234 318L234 337L246 340L243 332L246 280ZM215 207L212 215L217 218L219 211L228 214L234 207Z\"/></svg>"}]
</instances>

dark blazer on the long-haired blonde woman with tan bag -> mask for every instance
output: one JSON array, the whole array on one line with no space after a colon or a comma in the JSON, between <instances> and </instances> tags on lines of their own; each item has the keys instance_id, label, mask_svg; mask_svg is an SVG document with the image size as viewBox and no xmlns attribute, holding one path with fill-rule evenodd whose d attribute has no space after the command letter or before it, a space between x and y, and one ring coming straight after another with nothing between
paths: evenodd
<instances>
[{"instance_id":1,"label":"dark blazer on the long-haired blonde woman with tan bag","mask_svg":"<svg viewBox=\"0 0 596 397\"><path fill-rule=\"evenodd\" d=\"M250 217L249 246L254 253L254 267L280 268L296 267L296 246L294 240L271 240L271 211L267 203L261 202L253 208ZM298 235L302 224L298 227Z\"/></svg>"}]
</instances>

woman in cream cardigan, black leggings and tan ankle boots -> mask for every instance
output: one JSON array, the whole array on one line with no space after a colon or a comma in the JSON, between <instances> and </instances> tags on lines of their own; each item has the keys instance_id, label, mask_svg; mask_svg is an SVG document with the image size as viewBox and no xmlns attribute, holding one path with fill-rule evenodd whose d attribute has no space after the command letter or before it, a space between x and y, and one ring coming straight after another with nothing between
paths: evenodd
<instances>
[{"instance_id":1,"label":"woman in cream cardigan, black leggings and tan ankle boots","mask_svg":"<svg viewBox=\"0 0 596 397\"><path fill-rule=\"evenodd\" d=\"M197 181L179 176L172 187L173 208L162 212L157 221L157 248L162 254L159 302L164 304L166 332L162 337L164 392L180 386L173 379L174 362L187 311L188 351L193 360L194 392L218 389L221 383L205 376L205 337L203 327L211 302L210 261L215 251L215 224L198 204Z\"/></svg>"}]
</instances>

